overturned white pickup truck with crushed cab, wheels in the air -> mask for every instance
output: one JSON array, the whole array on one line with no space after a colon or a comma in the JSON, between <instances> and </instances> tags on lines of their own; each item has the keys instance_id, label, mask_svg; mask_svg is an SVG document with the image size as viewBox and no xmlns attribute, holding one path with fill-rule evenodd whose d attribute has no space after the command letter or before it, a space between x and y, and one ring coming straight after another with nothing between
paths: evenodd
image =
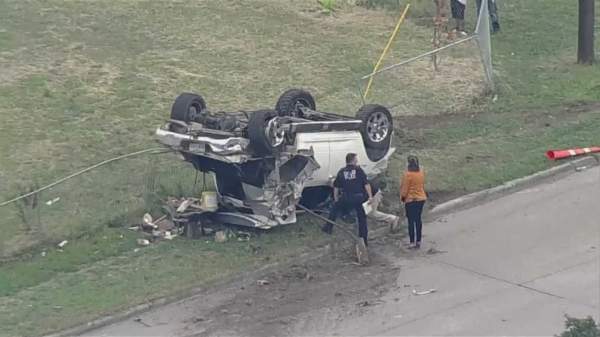
<instances>
[{"instance_id":1,"label":"overturned white pickup truck with crushed cab, wheels in the air","mask_svg":"<svg viewBox=\"0 0 600 337\"><path fill-rule=\"evenodd\" d=\"M239 112L209 112L201 96L186 92L156 135L196 170L214 173L213 221L268 229L295 222L298 203L325 201L349 152L370 179L383 173L395 151L392 123L378 104L354 117L319 112L301 89L284 92L274 110Z\"/></svg>"}]
</instances>

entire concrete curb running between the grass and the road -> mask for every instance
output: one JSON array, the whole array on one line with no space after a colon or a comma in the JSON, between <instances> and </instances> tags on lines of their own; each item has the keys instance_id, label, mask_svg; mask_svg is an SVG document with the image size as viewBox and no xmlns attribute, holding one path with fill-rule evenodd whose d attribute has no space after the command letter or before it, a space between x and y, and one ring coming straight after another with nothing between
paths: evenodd
<instances>
[{"instance_id":1,"label":"entire concrete curb running between the grass and the road","mask_svg":"<svg viewBox=\"0 0 600 337\"><path fill-rule=\"evenodd\" d=\"M573 172L581 167L589 168L598 165L600 165L600 156L588 156L580 158L578 160L574 160L548 170L540 171L530 176L506 182L503 185L496 186L494 188L485 189L483 191L474 192L472 194L464 195L463 197L446 201L445 203L439 204L433 209L429 210L427 212L427 217L442 216L448 213L454 213L459 210L464 210L469 207L478 206L479 204L488 203L489 201L496 200L497 198L501 198L505 195L520 191L521 189L537 185L541 182L544 182L544 180L550 177L568 174L569 172ZM383 234L386 233L389 233L389 228L387 226L371 230L369 232L369 236L375 238L383 236ZM280 269L282 267L292 266L293 264L305 263L310 260L321 258L326 254L341 251L344 248L352 248L353 244L353 240L344 240L341 242L332 243L331 245L326 245L322 248L318 248L313 252L305 252L296 258L267 264L266 266L263 266L260 269L242 273L240 275L234 276L233 278L218 282L218 284L192 287L176 295L161 297L160 299L153 300L152 302L137 305L130 309L126 309L125 311L121 311L115 315L109 315L100 318L99 320L91 321L87 324L82 324L80 326L64 330L62 332L44 336L63 337L82 335L83 333L89 332L91 330L110 326L112 324L125 321L131 317L142 315L146 312L151 312L155 309L162 308L167 305L176 305L178 303L196 299L197 297L202 296L202 294L206 294L209 291L216 291L224 288L233 287L238 284L242 284L244 282L247 282L248 279L259 278L260 276L274 272L275 270Z\"/></svg>"}]
</instances>

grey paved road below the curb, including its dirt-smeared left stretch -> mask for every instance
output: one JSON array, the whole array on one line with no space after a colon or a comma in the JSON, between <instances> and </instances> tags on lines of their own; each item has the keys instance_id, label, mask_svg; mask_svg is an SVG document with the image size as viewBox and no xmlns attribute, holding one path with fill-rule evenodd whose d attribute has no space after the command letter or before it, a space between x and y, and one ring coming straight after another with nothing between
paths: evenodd
<instances>
[{"instance_id":1,"label":"grey paved road below the curb, including its dirt-smeared left stretch","mask_svg":"<svg viewBox=\"0 0 600 337\"><path fill-rule=\"evenodd\" d=\"M368 273L360 267L328 267L331 275L319 279L316 274L313 281L284 289L286 295L304 291L323 296L328 304L313 298L320 307L302 299L260 307L268 317L280 314L277 321L262 323L263 318L256 316L260 299L270 299L272 290L250 294L246 288L247 296L256 297L256 305L244 312L244 297L235 306L244 293L228 293L227 299L219 300L224 306L212 309L217 312L208 320L214 321L212 327L206 321L185 323L199 312L210 312L214 305L209 302L215 297L206 297L143 317L149 322L169 317L168 324L156 328L143 329L128 321L88 335L541 336L562 332L565 314L592 315L599 321L600 168L456 213L424 231L427 237L421 252L392 254L380 264L401 266L397 279L392 275L388 283L379 285L380 305L357 308L349 302L356 298L343 302L343 297L325 296L342 291L336 287L359 273L391 273L388 267L377 265ZM444 252L425 253L429 248ZM356 279L359 289L370 287L361 282L365 281ZM437 291L413 295L413 290L428 289ZM222 308L239 312L245 321L236 323L231 315L220 318ZM278 321L283 323L277 326Z\"/></svg>"}]
</instances>

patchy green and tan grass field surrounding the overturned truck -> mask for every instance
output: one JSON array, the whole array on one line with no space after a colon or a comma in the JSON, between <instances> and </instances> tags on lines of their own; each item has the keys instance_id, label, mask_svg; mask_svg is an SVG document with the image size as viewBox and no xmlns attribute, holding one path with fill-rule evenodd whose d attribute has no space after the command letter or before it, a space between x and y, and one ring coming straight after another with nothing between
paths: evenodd
<instances>
[{"instance_id":1,"label":"patchy green and tan grass field surrounding the overturned truck","mask_svg":"<svg viewBox=\"0 0 600 337\"><path fill-rule=\"evenodd\" d=\"M323 109L352 114L361 104L353 80L371 72L399 8L397 1L387 10L347 3L330 17L309 0L4 1L0 201L157 147L154 129L182 91L204 95L215 109L254 109L299 86ZM600 142L600 68L575 64L575 5L499 5L496 103L481 94L474 44L444 53L437 73L422 60L377 77L371 89L371 99L394 106L404 122L392 180L415 152L432 199L547 168L548 148ZM433 11L430 1L413 2L386 65L431 49ZM28 210L39 228L27 231L14 207L0 207L1 248L13 256L0 275L0 335L62 329L337 239L303 222L256 237L258 252L247 243L186 240L134 252L136 233L106 225L155 207L148 174L158 171L172 188L165 193L191 193L179 187L194 172L164 156L115 163L44 192L41 206ZM57 196L58 203L43 204ZM65 237L63 252L50 248Z\"/></svg>"}]
</instances>

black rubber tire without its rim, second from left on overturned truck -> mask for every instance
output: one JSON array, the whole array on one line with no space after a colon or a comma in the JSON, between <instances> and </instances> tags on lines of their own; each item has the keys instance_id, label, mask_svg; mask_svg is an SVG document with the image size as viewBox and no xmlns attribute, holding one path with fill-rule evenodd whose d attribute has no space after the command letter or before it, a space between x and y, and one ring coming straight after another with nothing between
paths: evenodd
<instances>
[{"instance_id":1,"label":"black rubber tire without its rim, second from left on overturned truck","mask_svg":"<svg viewBox=\"0 0 600 337\"><path fill-rule=\"evenodd\" d=\"M275 110L261 110L250 115L248 120L248 138L250 138L250 148L259 157L276 155L283 151L285 139L274 145L273 137L268 137L266 129L268 123L274 118L278 118Z\"/></svg>"}]
</instances>

